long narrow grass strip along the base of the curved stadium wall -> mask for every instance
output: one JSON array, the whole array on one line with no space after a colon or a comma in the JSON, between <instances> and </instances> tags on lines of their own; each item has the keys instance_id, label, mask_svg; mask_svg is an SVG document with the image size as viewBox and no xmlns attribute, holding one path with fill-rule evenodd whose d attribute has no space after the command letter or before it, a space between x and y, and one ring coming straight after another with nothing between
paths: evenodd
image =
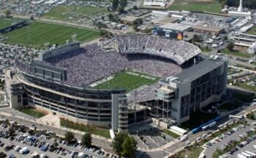
<instances>
[{"instance_id":1,"label":"long narrow grass strip along the base of the curved stadium wall","mask_svg":"<svg viewBox=\"0 0 256 158\"><path fill-rule=\"evenodd\" d=\"M64 118L60 118L60 126L64 126L69 129L76 129L82 132L90 132L91 134L99 135L102 137L111 138L110 131L108 129L102 129L94 126L85 126L79 123L65 120Z\"/></svg>"}]
</instances>

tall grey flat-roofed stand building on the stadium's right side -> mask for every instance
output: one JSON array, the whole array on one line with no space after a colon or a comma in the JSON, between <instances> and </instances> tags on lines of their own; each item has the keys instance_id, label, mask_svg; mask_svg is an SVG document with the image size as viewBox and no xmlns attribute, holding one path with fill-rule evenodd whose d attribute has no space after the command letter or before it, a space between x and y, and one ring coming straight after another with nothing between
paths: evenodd
<instances>
[{"instance_id":1,"label":"tall grey flat-roofed stand building on the stadium's right side","mask_svg":"<svg viewBox=\"0 0 256 158\"><path fill-rule=\"evenodd\" d=\"M196 110L218 101L226 93L227 65L227 58L211 57L176 76L160 80L160 87L155 90L158 103L152 109L159 111L166 107L155 116L164 118L162 111L167 111L179 124L188 121Z\"/></svg>"}]
</instances>

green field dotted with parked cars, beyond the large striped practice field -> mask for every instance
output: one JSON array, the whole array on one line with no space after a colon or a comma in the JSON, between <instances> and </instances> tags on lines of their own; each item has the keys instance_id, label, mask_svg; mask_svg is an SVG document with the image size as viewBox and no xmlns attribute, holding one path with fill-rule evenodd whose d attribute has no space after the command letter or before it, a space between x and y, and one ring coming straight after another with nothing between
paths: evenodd
<instances>
[{"instance_id":1,"label":"green field dotted with parked cars, beyond the large striped practice field","mask_svg":"<svg viewBox=\"0 0 256 158\"><path fill-rule=\"evenodd\" d=\"M74 6L66 6L60 5L55 7L53 10L47 12L43 15L43 18L54 18L57 20L65 20L69 17L74 17L77 19L79 16L86 15L86 14L96 14L96 13L104 13L107 12L106 8L100 7L74 7Z\"/></svg>"}]
</instances>

